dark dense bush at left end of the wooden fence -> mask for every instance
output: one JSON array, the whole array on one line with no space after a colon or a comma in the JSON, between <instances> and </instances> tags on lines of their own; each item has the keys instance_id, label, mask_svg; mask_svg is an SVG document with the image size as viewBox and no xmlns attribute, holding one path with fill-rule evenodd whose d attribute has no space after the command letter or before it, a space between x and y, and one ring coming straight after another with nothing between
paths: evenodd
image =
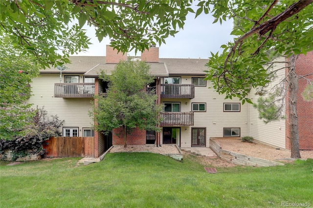
<instances>
[{"instance_id":1,"label":"dark dense bush at left end of the wooden fence","mask_svg":"<svg viewBox=\"0 0 313 208\"><path fill-rule=\"evenodd\" d=\"M38 108L35 111L35 116L32 122L26 125L23 129L23 135L16 136L13 140L0 141L0 153L5 149L10 149L14 156L12 160L16 160L21 156L27 156L29 153L43 155L45 149L43 144L51 136L60 136L62 132L60 127L63 121L54 115L47 118L47 112L44 108Z\"/></svg>"}]
</instances>

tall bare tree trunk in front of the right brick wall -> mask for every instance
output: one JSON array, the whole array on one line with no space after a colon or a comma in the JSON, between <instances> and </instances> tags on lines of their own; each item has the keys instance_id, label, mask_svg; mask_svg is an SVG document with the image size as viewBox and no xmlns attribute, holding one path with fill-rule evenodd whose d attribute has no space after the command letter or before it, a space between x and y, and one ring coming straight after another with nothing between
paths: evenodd
<instances>
[{"instance_id":1,"label":"tall bare tree trunk in front of the right brick wall","mask_svg":"<svg viewBox=\"0 0 313 208\"><path fill-rule=\"evenodd\" d=\"M299 149L299 130L297 116L298 77L295 71L296 56L289 60L289 126L291 140L291 158L301 158Z\"/></svg>"}]
</instances>

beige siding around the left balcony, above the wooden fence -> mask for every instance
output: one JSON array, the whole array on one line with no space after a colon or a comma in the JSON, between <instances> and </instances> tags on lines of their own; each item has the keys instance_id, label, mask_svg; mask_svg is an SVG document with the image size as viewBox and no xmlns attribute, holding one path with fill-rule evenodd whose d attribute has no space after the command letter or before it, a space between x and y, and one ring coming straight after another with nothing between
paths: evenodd
<instances>
[{"instance_id":1,"label":"beige siding around the left balcony, above the wooden fence","mask_svg":"<svg viewBox=\"0 0 313 208\"><path fill-rule=\"evenodd\" d=\"M82 75L79 82L83 82ZM93 124L89 117L90 102L93 99L54 98L54 83L60 83L60 75L42 74L34 79L31 83L32 96L28 102L33 104L33 108L44 107L48 115L58 115L59 119L65 120L64 127L79 127L79 136L83 136L82 128L92 127Z\"/></svg>"}]
</instances>

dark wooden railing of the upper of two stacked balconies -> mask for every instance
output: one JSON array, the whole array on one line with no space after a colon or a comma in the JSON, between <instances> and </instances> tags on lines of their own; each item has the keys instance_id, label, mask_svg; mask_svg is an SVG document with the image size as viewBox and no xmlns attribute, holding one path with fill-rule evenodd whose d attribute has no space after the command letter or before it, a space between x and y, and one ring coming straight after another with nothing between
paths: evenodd
<instances>
[{"instance_id":1,"label":"dark wooden railing of the upper of two stacked balconies","mask_svg":"<svg viewBox=\"0 0 313 208\"><path fill-rule=\"evenodd\" d=\"M195 98L193 84L161 84L161 98Z\"/></svg>"}]
</instances>

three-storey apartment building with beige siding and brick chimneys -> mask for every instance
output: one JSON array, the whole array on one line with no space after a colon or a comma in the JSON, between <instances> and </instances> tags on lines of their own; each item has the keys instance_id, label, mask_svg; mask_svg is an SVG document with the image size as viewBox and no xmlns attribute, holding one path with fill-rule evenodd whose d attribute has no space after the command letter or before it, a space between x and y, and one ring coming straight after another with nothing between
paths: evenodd
<instances>
[{"instance_id":1,"label":"three-storey apartment building with beige siding and brick chimneys","mask_svg":"<svg viewBox=\"0 0 313 208\"><path fill-rule=\"evenodd\" d=\"M159 58L158 52L157 47L151 47L134 61L140 59L150 64L150 75L155 77L155 82L147 89L155 88L157 102L164 105L160 113L161 131L136 129L128 137L129 145L209 147L211 137L251 135L264 143L288 147L286 121L265 125L250 104L242 105L237 99L225 100L224 95L209 88L211 83L203 79L207 70L204 64L208 60L164 59ZM89 113L93 97L106 93L107 88L107 83L98 76L100 71L110 74L119 61L126 59L127 54L117 53L110 46L106 48L106 57L70 57L71 63L65 70L41 71L40 77L31 83L33 96L29 103L44 107L49 115L57 114L64 120L63 136L94 137L94 152L98 157L111 145L123 144L123 138L116 134L120 129L107 136L93 130L94 121ZM251 93L251 99L257 98ZM312 120L309 122L312 124ZM273 131L274 136L269 136L269 131ZM312 140L312 132L310 138Z\"/></svg>"}]
</instances>

